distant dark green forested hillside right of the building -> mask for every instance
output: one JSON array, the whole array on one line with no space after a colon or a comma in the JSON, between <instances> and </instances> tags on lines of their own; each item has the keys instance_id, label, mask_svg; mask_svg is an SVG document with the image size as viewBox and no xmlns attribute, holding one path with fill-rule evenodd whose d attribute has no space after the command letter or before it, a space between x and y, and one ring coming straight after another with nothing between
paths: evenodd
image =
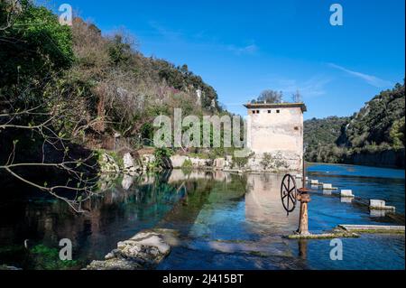
<instances>
[{"instance_id":1,"label":"distant dark green forested hillside right of the building","mask_svg":"<svg viewBox=\"0 0 406 288\"><path fill-rule=\"evenodd\" d=\"M371 159L371 155L388 152L396 154L393 159L399 158L404 154L404 134L403 83L375 96L354 116L305 121L306 158L310 162L351 163L355 157Z\"/></svg>"}]
</instances>

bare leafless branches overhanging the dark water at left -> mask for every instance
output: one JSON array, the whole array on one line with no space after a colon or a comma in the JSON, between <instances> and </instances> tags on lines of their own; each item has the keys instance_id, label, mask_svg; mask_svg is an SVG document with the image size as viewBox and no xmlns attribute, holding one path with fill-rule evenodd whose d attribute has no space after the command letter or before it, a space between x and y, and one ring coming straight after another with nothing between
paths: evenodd
<instances>
[{"instance_id":1,"label":"bare leafless branches overhanging the dark water at left","mask_svg":"<svg viewBox=\"0 0 406 288\"><path fill-rule=\"evenodd\" d=\"M76 212L83 212L82 203L96 194L97 162L93 153L81 153L80 156L83 157L77 157L71 153L72 139L59 127L63 121L66 121L68 112L72 111L71 108L64 107L63 102L59 97L54 98L54 101L49 104L42 103L36 107L23 109L14 108L13 101L0 102L3 103L0 106L2 153L6 153L7 147L10 148L5 161L0 163L0 172L6 172L18 181L48 192L59 200L64 200ZM71 123L76 127L76 131L79 130L79 123L84 123L85 119L78 118L77 121L78 123ZM82 126L86 127L86 125ZM23 135L24 142L39 139L40 153L32 149L30 153L34 155L28 157L29 160L24 159L19 155L20 140L14 139L14 135ZM53 169L61 172L64 177L57 181L39 183L25 176L24 172L32 168L36 171Z\"/></svg>"}]
</instances>

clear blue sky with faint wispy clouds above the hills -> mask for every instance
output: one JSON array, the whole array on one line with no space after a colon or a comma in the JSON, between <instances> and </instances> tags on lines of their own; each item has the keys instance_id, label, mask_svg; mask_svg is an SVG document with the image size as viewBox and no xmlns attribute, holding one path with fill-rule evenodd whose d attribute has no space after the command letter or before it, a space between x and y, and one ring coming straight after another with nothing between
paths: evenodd
<instances>
[{"instance_id":1,"label":"clear blue sky with faint wispy clouds above the hills","mask_svg":"<svg viewBox=\"0 0 406 288\"><path fill-rule=\"evenodd\" d=\"M350 116L404 78L404 0L64 0L104 33L125 29L146 56L186 63L237 114L263 89L299 89L305 118ZM330 5L344 9L331 26Z\"/></svg>"}]
</instances>

